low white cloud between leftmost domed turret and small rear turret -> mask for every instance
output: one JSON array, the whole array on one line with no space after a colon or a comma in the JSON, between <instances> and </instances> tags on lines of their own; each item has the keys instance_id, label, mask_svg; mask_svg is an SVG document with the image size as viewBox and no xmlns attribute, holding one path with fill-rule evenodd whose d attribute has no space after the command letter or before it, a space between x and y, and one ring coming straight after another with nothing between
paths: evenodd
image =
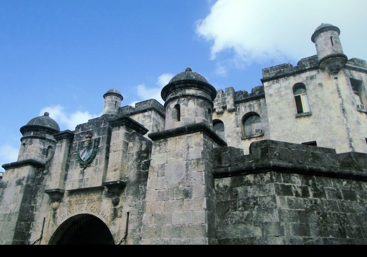
<instances>
[{"instance_id":1,"label":"low white cloud between leftmost domed turret and small rear turret","mask_svg":"<svg viewBox=\"0 0 367 257\"><path fill-rule=\"evenodd\" d=\"M88 120L102 115L102 113L91 114L87 111L76 111L74 113L67 113L64 111L64 108L61 105L46 106L45 108L41 109L39 115L43 115L44 112L50 113L50 117L59 124L61 130L63 130L63 128L75 130L76 125L86 123L88 122Z\"/></svg>"}]
</instances>

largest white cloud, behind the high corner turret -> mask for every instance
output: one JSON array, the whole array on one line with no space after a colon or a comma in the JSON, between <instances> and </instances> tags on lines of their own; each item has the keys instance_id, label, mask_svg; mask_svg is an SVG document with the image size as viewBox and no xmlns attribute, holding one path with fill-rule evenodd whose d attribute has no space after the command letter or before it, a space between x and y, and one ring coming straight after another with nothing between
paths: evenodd
<instances>
[{"instance_id":1,"label":"largest white cloud, behind the high corner turret","mask_svg":"<svg viewBox=\"0 0 367 257\"><path fill-rule=\"evenodd\" d=\"M367 59L366 10L365 0L218 0L197 21L196 33L212 43L211 59L232 50L235 63L248 65L316 54L310 37L321 23L331 23L341 29L344 53Z\"/></svg>"}]
</instances>

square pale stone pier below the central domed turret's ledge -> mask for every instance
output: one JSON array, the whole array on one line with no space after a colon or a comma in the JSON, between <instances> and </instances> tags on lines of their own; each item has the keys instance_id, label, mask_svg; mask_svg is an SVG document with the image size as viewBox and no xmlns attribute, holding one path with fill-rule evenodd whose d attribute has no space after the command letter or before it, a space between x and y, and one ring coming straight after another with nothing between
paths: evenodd
<instances>
[{"instance_id":1,"label":"square pale stone pier below the central domed turret's ledge","mask_svg":"<svg viewBox=\"0 0 367 257\"><path fill-rule=\"evenodd\" d=\"M217 242L211 174L217 146L203 131L153 140L142 244Z\"/></svg>"}]
</instances>

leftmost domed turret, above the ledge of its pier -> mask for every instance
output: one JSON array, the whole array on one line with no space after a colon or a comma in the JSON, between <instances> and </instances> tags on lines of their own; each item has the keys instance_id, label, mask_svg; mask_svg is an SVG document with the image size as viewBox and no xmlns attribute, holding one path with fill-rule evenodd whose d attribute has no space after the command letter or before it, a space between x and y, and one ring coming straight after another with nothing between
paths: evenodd
<instances>
[{"instance_id":1,"label":"leftmost domed turret, above the ledge of its pier","mask_svg":"<svg viewBox=\"0 0 367 257\"><path fill-rule=\"evenodd\" d=\"M34 159L46 162L52 157L56 145L54 135L60 131L60 127L49 117L48 112L31 119L20 131L23 137L18 161Z\"/></svg>"}]
</instances>

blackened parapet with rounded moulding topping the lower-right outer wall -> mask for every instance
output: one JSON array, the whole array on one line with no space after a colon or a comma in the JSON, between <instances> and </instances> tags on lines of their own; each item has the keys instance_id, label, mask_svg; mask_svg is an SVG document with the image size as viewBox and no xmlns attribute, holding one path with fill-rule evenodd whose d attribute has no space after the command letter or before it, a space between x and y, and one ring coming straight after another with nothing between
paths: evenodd
<instances>
[{"instance_id":1,"label":"blackened parapet with rounded moulding topping the lower-right outer wall","mask_svg":"<svg viewBox=\"0 0 367 257\"><path fill-rule=\"evenodd\" d=\"M262 140L251 143L249 155L227 146L214 149L214 156L216 177L273 170L367 180L366 153L337 154L331 148Z\"/></svg>"}]
</instances>

